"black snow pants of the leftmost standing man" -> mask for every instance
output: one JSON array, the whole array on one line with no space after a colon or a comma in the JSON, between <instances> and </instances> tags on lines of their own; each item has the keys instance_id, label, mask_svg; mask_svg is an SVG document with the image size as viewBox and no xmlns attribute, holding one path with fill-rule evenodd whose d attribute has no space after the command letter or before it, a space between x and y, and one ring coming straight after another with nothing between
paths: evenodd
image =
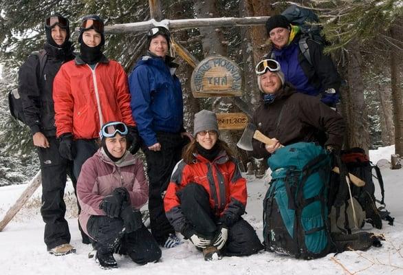
<instances>
[{"instance_id":1,"label":"black snow pants of the leftmost standing man","mask_svg":"<svg viewBox=\"0 0 403 275\"><path fill-rule=\"evenodd\" d=\"M56 137L46 137L50 147L38 147L42 175L41 215L45 222L44 241L47 250L70 242L69 225L65 220L66 205L63 199L67 175L72 179L76 190L76 177L73 175L73 162L58 153Z\"/></svg>"}]
</instances>

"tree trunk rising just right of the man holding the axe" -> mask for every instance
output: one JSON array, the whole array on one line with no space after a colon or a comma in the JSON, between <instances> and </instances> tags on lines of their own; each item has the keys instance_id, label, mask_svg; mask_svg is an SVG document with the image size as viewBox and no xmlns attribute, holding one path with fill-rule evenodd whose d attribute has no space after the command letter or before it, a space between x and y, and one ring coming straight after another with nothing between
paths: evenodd
<instances>
[{"instance_id":1,"label":"tree trunk rising just right of the man holding the axe","mask_svg":"<svg viewBox=\"0 0 403 275\"><path fill-rule=\"evenodd\" d=\"M361 147L369 151L368 111L364 101L364 84L362 83L362 58L360 45L352 41L347 45L347 93L342 97L345 104L347 121L348 148ZM345 100L347 98L347 100Z\"/></svg>"}]
</instances>

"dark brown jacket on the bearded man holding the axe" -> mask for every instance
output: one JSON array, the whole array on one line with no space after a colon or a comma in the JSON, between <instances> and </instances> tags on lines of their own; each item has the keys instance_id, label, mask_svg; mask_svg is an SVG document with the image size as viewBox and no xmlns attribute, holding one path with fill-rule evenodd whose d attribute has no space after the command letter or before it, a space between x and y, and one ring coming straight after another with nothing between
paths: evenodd
<instances>
[{"instance_id":1,"label":"dark brown jacket on the bearded man holding the axe","mask_svg":"<svg viewBox=\"0 0 403 275\"><path fill-rule=\"evenodd\" d=\"M252 124L264 135L275 137L283 145L296 142L319 142L318 132L327 134L324 146L340 149L345 132L341 115L327 107L319 98L296 93L285 86L277 92L274 102L262 103L252 118ZM253 140L253 157L270 157L263 143Z\"/></svg>"}]
</instances>

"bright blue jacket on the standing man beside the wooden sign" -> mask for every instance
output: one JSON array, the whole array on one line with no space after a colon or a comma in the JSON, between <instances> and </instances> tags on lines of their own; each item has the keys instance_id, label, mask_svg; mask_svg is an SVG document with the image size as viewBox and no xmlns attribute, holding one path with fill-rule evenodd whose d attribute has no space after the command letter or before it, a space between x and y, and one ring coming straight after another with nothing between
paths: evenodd
<instances>
[{"instance_id":1,"label":"bright blue jacket on the standing man beside the wooden sign","mask_svg":"<svg viewBox=\"0 0 403 275\"><path fill-rule=\"evenodd\" d=\"M171 74L174 69L164 59L146 55L129 76L131 111L146 146L158 142L156 132L183 130L182 88L177 76Z\"/></svg>"}]
</instances>

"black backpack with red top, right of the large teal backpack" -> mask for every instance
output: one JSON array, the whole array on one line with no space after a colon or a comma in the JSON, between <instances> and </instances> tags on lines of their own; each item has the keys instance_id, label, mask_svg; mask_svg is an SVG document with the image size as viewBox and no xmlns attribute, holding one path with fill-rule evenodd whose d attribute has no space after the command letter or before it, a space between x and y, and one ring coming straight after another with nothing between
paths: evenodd
<instances>
[{"instance_id":1,"label":"black backpack with red top, right of the large teal backpack","mask_svg":"<svg viewBox=\"0 0 403 275\"><path fill-rule=\"evenodd\" d=\"M364 210L364 220L368 223L371 223L373 227L378 229L382 228L382 219L388 221L390 225L393 225L394 218L390 216L390 212L385 208L384 183L382 174L380 173L380 168L376 165L373 165L369 161L369 157L365 151L358 147L341 151L340 159L342 162L340 166L345 166L345 169L349 173L356 175L365 181L365 185L362 187L351 184L351 196L353 199L356 199L358 203L360 203L362 210ZM375 175L373 175L373 171L375 171ZM375 184L373 182L373 178L378 179L382 197L380 200L375 198ZM347 201L350 199L349 190L340 192L340 190L338 190L340 186L344 186L340 185L340 176L333 174L331 177L331 191L329 193L329 202L332 206L335 204L337 206L341 206L343 199L347 205ZM337 197L336 194L338 194L339 197ZM344 197L340 197L340 194L342 194ZM376 206L377 202L380 203L380 207ZM342 214L346 213L339 212L336 214L336 216ZM338 217L336 217L336 219L338 219ZM349 219L351 220L351 217L346 217L344 228L340 228L343 232L351 233L351 224L348 222Z\"/></svg>"}]
</instances>

